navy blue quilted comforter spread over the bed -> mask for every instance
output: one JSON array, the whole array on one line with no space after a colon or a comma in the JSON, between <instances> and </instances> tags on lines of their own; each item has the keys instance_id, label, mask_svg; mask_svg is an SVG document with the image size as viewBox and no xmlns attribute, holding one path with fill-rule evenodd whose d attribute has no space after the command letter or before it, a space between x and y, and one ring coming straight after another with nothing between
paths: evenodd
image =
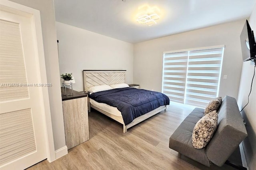
<instances>
[{"instance_id":1,"label":"navy blue quilted comforter spread over the bed","mask_svg":"<svg viewBox=\"0 0 256 170\"><path fill-rule=\"evenodd\" d=\"M116 107L122 113L125 125L160 106L170 104L165 94L130 87L92 93L90 98Z\"/></svg>"}]
</instances>

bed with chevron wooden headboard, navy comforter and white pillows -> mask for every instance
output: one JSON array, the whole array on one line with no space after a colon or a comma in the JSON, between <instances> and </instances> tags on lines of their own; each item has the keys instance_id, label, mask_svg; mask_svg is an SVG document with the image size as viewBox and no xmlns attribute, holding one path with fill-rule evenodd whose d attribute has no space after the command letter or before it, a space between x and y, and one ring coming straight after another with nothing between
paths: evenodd
<instances>
[{"instance_id":1,"label":"bed with chevron wooden headboard, navy comforter and white pillows","mask_svg":"<svg viewBox=\"0 0 256 170\"><path fill-rule=\"evenodd\" d=\"M89 95L89 107L123 124L124 133L128 128L166 110L170 103L169 98L159 92L130 88L128 84L122 88L116 86L125 83L125 72L84 70L84 90L93 92ZM109 85L116 87L112 89Z\"/></svg>"}]
</instances>

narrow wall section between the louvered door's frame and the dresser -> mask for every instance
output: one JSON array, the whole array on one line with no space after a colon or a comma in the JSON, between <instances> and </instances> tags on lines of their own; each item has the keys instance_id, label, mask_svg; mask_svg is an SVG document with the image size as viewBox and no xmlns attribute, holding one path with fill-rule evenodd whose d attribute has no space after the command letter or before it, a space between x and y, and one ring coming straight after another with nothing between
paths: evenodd
<instances>
[{"instance_id":1,"label":"narrow wall section between the louvered door's frame and the dresser","mask_svg":"<svg viewBox=\"0 0 256 170\"><path fill-rule=\"evenodd\" d=\"M60 71L58 63L58 50L55 26L53 0L11 0L13 2L40 10L42 35L44 43L44 57L46 64L47 83L52 83L48 88L54 148L58 150L66 146L64 121L62 113L62 99L60 91ZM46 82L42 82L46 83Z\"/></svg>"}]
</instances>

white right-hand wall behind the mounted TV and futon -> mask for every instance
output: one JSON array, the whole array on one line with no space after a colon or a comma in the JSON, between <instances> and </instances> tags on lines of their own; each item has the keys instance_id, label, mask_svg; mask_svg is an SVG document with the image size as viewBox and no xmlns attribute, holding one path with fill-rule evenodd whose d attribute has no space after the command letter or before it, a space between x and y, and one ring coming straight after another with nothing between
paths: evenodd
<instances>
[{"instance_id":1,"label":"white right-hand wall behind the mounted TV and futon","mask_svg":"<svg viewBox=\"0 0 256 170\"><path fill-rule=\"evenodd\" d=\"M256 36L256 4L254 10L249 18L249 24L254 30ZM248 95L252 83L252 76L254 72L254 63L247 61L243 63L242 74L240 80L240 88L238 94L238 106L242 109L248 102ZM242 111L242 116L246 122L246 130L248 137L244 140L244 151L246 160L250 170L256 169L256 76L252 84L252 92L249 98L249 104Z\"/></svg>"}]
</instances>

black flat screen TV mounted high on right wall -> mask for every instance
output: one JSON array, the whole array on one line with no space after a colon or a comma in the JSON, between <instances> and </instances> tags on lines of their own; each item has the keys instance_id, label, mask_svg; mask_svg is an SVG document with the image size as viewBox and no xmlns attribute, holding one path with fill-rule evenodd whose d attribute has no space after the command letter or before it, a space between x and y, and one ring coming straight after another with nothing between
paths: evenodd
<instances>
[{"instance_id":1,"label":"black flat screen TV mounted high on right wall","mask_svg":"<svg viewBox=\"0 0 256 170\"><path fill-rule=\"evenodd\" d=\"M248 20L246 20L246 23L244 24L244 28L240 35L240 41L243 61L255 60L256 42Z\"/></svg>"}]
</instances>

